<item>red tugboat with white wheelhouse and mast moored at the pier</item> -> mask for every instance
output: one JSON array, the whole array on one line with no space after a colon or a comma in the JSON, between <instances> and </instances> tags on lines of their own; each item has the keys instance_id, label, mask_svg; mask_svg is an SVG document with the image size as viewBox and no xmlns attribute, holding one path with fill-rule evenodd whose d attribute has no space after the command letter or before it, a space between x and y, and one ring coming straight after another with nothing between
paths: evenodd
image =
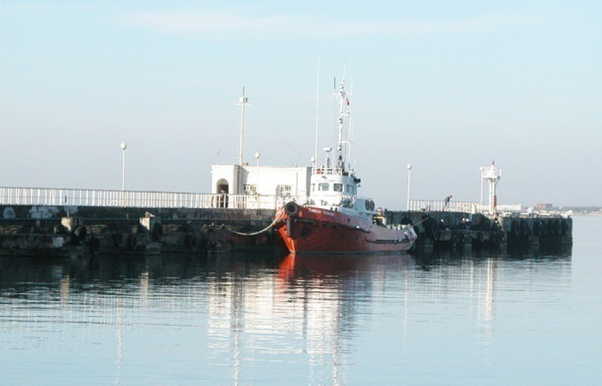
<instances>
[{"instance_id":1,"label":"red tugboat with white wheelhouse and mast moored at the pier","mask_svg":"<svg viewBox=\"0 0 602 386\"><path fill-rule=\"evenodd\" d=\"M313 160L309 200L295 201L278 209L275 228L291 254L395 253L407 251L417 236L411 225L387 225L374 200L358 196L361 182L355 169L346 164L350 154L349 97L345 81L339 91L338 146L336 163L331 148L325 148L321 167Z\"/></svg>"}]
</instances>

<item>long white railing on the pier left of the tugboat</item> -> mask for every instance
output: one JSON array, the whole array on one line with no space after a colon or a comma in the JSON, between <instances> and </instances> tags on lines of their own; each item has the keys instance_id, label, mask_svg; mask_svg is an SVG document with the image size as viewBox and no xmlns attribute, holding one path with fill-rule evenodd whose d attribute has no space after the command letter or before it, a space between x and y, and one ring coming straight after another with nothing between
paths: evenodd
<instances>
[{"instance_id":1,"label":"long white railing on the pier left of the tugboat","mask_svg":"<svg viewBox=\"0 0 602 386\"><path fill-rule=\"evenodd\" d=\"M293 199L301 201L304 198L276 195L0 187L0 205L275 210Z\"/></svg>"}]
</instances>

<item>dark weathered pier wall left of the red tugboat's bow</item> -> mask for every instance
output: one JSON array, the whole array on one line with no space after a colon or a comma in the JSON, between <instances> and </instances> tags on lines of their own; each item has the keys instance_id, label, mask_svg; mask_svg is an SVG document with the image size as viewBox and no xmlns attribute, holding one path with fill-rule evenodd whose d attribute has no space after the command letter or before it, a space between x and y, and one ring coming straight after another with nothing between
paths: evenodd
<instances>
[{"instance_id":1,"label":"dark weathered pier wall left of the red tugboat's bow","mask_svg":"<svg viewBox=\"0 0 602 386\"><path fill-rule=\"evenodd\" d=\"M273 210L0 206L0 254L152 254L276 246Z\"/></svg>"}]
</instances>

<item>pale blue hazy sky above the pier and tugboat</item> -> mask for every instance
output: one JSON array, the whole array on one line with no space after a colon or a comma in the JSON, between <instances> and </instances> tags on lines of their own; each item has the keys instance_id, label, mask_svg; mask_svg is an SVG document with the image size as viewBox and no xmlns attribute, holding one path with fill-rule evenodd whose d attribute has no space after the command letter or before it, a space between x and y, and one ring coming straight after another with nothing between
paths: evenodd
<instances>
[{"instance_id":1,"label":"pale blue hazy sky above the pier and tugboat","mask_svg":"<svg viewBox=\"0 0 602 386\"><path fill-rule=\"evenodd\" d=\"M361 195L602 206L599 1L0 1L0 186L210 193L309 166L353 91ZM318 116L318 120L316 117ZM322 159L318 154L318 159ZM487 186L484 186L487 197Z\"/></svg>"}]
</instances>

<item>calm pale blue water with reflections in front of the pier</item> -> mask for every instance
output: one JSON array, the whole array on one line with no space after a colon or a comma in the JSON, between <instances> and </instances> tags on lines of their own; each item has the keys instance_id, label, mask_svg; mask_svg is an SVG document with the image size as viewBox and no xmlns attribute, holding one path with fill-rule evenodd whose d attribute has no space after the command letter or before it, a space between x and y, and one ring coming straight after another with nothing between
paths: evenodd
<instances>
[{"instance_id":1,"label":"calm pale blue water with reflections in front of the pier","mask_svg":"<svg viewBox=\"0 0 602 386\"><path fill-rule=\"evenodd\" d=\"M598 385L602 217L557 254L0 259L1 385Z\"/></svg>"}]
</instances>

